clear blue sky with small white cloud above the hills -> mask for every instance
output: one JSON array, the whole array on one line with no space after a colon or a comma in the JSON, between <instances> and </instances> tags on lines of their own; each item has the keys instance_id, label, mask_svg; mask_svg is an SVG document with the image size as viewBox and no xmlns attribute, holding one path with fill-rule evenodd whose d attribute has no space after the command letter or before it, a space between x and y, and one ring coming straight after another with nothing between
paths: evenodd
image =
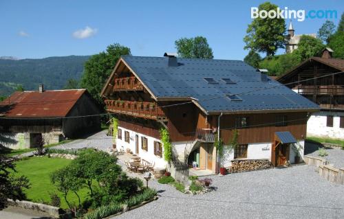
<instances>
[{"instance_id":1,"label":"clear blue sky with small white cloud above the hills","mask_svg":"<svg viewBox=\"0 0 344 219\"><path fill-rule=\"evenodd\" d=\"M242 60L250 8L264 1L0 1L0 56L91 55L111 43L134 56L175 51L181 37L205 36L215 58ZM341 0L270 1L294 10L344 9ZM293 21L296 34L316 33L325 19ZM287 25L289 20L286 21ZM89 36L89 37L87 37Z\"/></svg>"}]
</instances>

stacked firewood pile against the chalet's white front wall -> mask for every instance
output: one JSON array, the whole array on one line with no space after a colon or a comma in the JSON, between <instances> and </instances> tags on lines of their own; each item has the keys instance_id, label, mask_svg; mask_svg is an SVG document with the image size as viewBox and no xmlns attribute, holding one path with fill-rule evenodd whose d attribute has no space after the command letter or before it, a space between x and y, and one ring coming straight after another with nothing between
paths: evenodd
<instances>
[{"instance_id":1,"label":"stacked firewood pile against the chalet's white front wall","mask_svg":"<svg viewBox=\"0 0 344 219\"><path fill-rule=\"evenodd\" d=\"M267 159L258 159L258 160L233 160L232 167L230 168L231 172L244 172L251 170L262 170L272 168L272 164Z\"/></svg>"}]
</instances>

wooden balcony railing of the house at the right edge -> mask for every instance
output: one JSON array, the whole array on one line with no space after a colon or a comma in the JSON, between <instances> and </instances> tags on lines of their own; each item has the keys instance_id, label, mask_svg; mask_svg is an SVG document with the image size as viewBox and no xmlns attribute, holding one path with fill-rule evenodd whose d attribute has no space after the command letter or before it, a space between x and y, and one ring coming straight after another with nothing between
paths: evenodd
<instances>
[{"instance_id":1,"label":"wooden balcony railing of the house at the right edge","mask_svg":"<svg viewBox=\"0 0 344 219\"><path fill-rule=\"evenodd\" d=\"M341 85L301 85L293 90L297 90L300 94L344 95L344 86Z\"/></svg>"}]
</instances>

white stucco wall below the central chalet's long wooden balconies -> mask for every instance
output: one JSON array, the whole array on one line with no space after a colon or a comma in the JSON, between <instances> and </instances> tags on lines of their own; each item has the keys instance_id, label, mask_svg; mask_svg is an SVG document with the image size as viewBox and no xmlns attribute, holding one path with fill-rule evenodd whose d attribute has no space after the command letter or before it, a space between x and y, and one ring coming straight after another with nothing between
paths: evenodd
<instances>
[{"instance_id":1,"label":"white stucco wall below the central chalet's long wooden balconies","mask_svg":"<svg viewBox=\"0 0 344 219\"><path fill-rule=\"evenodd\" d=\"M116 139L116 146L118 148L118 150L122 149L122 150L127 150L127 148L129 148L133 153L135 153L136 151L136 142L135 142L135 135L138 135L138 156L141 159L144 159L146 161L149 161L151 163L155 163L154 168L166 168L166 161L164 161L163 158L158 157L154 154L154 141L160 141L160 139L155 139L153 137L147 136L147 135L142 135L139 132L134 132L132 130L126 129L126 128L122 128L120 126L118 126L118 128L122 129L122 139ZM130 141L129 143L125 142L125 131L129 131L129 137L130 137ZM147 137L147 141L148 141L148 150L142 150L141 148L141 137ZM163 150L163 149L162 149Z\"/></svg>"}]
</instances>

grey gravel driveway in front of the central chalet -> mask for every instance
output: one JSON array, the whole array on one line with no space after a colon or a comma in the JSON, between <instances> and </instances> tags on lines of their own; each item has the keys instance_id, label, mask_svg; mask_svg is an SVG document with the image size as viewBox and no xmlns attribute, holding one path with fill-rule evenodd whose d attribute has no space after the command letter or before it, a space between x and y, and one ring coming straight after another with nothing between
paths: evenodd
<instances>
[{"instance_id":1,"label":"grey gravel driveway in front of the central chalet","mask_svg":"<svg viewBox=\"0 0 344 219\"><path fill-rule=\"evenodd\" d=\"M160 198L116 218L344 218L344 186L308 165L211 178L217 191L196 196L150 181Z\"/></svg>"}]
</instances>

